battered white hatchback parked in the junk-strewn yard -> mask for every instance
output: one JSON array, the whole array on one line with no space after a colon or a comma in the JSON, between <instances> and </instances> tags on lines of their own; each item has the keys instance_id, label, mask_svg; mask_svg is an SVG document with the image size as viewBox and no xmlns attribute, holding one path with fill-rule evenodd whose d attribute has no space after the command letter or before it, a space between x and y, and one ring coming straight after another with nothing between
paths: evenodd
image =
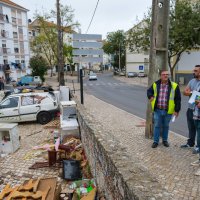
<instances>
[{"instance_id":1,"label":"battered white hatchback parked in the junk-strewn yard","mask_svg":"<svg viewBox=\"0 0 200 200\"><path fill-rule=\"evenodd\" d=\"M0 122L46 124L58 111L58 101L52 92L11 94L0 103Z\"/></svg>"}]
</instances>

